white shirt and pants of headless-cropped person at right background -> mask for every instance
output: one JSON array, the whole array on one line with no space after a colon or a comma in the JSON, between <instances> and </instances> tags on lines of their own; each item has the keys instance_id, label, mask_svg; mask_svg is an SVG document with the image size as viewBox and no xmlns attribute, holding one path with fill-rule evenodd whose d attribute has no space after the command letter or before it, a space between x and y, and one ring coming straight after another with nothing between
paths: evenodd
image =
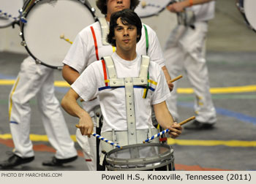
<instances>
[{"instance_id":1,"label":"white shirt and pants of headless-cropped person at right background","mask_svg":"<svg viewBox=\"0 0 256 184\"><path fill-rule=\"evenodd\" d=\"M189 9L195 12L195 28L178 25L170 34L165 45L165 61L171 77L181 74L182 69L187 72L189 82L195 91L196 120L201 123L215 123L217 121L214 104L211 100L208 83L208 69L205 58L207 21L214 18L215 1L195 5ZM174 118L177 112L177 83L174 85L167 107Z\"/></svg>"}]
</instances>

